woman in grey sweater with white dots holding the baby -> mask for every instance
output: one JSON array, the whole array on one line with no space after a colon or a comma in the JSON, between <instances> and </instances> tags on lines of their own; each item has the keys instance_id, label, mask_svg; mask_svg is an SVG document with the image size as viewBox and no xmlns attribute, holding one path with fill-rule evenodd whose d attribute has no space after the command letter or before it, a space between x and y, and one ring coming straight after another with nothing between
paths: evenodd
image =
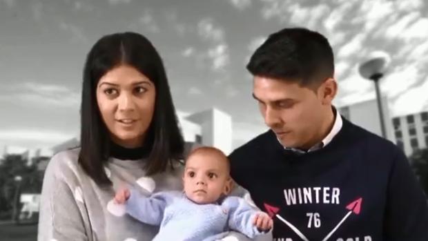
<instances>
[{"instance_id":1,"label":"woman in grey sweater with white dots holding the baby","mask_svg":"<svg viewBox=\"0 0 428 241\"><path fill-rule=\"evenodd\" d=\"M158 227L125 215L115 190L182 190L184 141L162 59L142 35L107 35L88 53L80 141L46 169L38 240L151 240Z\"/></svg>"}]
</instances>

